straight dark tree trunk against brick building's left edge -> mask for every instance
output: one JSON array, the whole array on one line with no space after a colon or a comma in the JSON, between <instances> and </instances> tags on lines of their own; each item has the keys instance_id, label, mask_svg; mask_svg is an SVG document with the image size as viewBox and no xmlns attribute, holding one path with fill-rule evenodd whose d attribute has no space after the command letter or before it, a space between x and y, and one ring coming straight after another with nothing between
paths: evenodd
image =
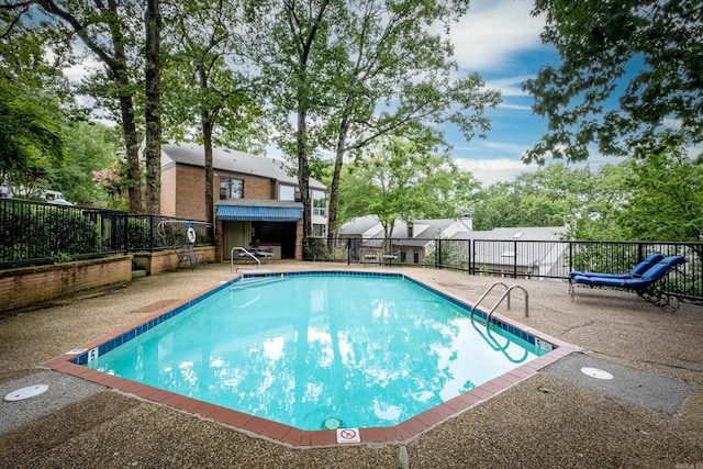
<instances>
[{"instance_id":1,"label":"straight dark tree trunk against brick building's left edge","mask_svg":"<svg viewBox=\"0 0 703 469\"><path fill-rule=\"evenodd\" d=\"M144 18L146 29L146 212L158 214L161 187L161 96L160 96L160 31L159 0L147 0Z\"/></svg>"}]
</instances>

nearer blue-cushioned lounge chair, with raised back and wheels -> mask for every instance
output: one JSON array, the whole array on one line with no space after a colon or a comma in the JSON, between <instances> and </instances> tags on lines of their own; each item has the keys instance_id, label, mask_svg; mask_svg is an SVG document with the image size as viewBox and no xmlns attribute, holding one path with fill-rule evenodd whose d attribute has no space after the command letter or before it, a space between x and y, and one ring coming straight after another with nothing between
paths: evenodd
<instances>
[{"instance_id":1,"label":"nearer blue-cushioned lounge chair, with raised back and wheels","mask_svg":"<svg viewBox=\"0 0 703 469\"><path fill-rule=\"evenodd\" d=\"M671 295L661 290L657 290L655 288L655 283L666 277L671 269L683 263L685 263L685 258L683 256L666 257L647 269L640 277L617 278L573 276L569 279L569 293L571 294L571 301L573 301L573 297L576 295L576 290L573 288L574 284L583 284L587 287L616 287L625 290L633 290L644 300L661 309L676 310L678 308L678 303L676 306L670 308Z\"/></svg>"}]
</instances>

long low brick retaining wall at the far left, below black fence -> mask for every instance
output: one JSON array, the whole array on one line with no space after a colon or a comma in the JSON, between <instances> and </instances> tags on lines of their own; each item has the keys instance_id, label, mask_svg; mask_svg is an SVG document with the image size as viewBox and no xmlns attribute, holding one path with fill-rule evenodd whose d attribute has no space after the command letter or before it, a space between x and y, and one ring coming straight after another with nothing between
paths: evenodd
<instances>
[{"instance_id":1,"label":"long low brick retaining wall at the far left, below black fence","mask_svg":"<svg viewBox=\"0 0 703 469\"><path fill-rule=\"evenodd\" d=\"M132 279L132 256L0 271L0 311Z\"/></svg>"}]
</instances>

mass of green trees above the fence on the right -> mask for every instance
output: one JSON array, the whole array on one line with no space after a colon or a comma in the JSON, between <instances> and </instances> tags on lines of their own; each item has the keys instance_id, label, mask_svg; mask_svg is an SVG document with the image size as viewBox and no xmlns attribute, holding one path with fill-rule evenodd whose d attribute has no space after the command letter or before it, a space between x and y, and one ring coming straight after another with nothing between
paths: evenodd
<instances>
[{"instance_id":1,"label":"mass of green trees above the fence on the right","mask_svg":"<svg viewBox=\"0 0 703 469\"><path fill-rule=\"evenodd\" d=\"M475 230L569 226L579 241L696 242L703 234L703 167L682 147L598 172L554 164L480 191Z\"/></svg>"}]
</instances>

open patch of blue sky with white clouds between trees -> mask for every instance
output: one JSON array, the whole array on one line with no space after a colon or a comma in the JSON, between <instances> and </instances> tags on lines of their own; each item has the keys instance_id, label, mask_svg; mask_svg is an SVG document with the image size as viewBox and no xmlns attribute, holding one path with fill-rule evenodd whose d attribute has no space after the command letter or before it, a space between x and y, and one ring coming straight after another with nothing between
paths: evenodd
<instances>
[{"instance_id":1,"label":"open patch of blue sky with white clouds between trees","mask_svg":"<svg viewBox=\"0 0 703 469\"><path fill-rule=\"evenodd\" d=\"M451 32L460 69L479 72L487 88L502 93L502 103L487 110L491 120L487 138L467 143L458 132L447 130L451 157L483 186L537 168L524 165L521 155L544 135L547 121L533 114L533 98L522 91L522 83L546 65L558 66L559 56L542 43L544 18L534 18L532 7L526 0L472 0L468 14Z\"/></svg>"}]
</instances>

